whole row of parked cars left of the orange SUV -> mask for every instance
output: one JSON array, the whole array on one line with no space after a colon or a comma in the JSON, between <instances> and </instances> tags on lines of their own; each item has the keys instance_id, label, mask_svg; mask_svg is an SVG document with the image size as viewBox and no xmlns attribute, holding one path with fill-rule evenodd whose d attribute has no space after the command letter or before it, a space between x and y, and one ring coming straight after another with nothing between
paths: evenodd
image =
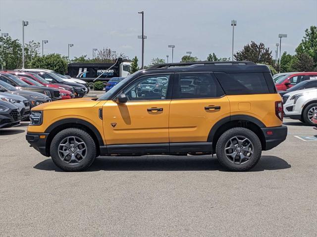
<instances>
[{"instance_id":1,"label":"whole row of parked cars left of the orange SUV","mask_svg":"<svg viewBox=\"0 0 317 237\"><path fill-rule=\"evenodd\" d=\"M59 99L80 98L88 92L86 82L52 70L2 70L0 128L15 126L20 120L29 119L31 108L37 105Z\"/></svg>"}]
</instances>

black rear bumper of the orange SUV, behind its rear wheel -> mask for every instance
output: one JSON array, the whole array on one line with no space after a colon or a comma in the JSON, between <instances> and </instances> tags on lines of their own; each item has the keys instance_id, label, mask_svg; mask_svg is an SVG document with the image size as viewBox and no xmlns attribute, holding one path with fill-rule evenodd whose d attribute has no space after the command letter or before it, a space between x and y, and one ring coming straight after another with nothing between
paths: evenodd
<instances>
[{"instance_id":1,"label":"black rear bumper of the orange SUV, behind its rear wheel","mask_svg":"<svg viewBox=\"0 0 317 237\"><path fill-rule=\"evenodd\" d=\"M265 147L263 150L270 150L286 139L287 127L285 125L261 129L265 138Z\"/></svg>"}]
</instances>

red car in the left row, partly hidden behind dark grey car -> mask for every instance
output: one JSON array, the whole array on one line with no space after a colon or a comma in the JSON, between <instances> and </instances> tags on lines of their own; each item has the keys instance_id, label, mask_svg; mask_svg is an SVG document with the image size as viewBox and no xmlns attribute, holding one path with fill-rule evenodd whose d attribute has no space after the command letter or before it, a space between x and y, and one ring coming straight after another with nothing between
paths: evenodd
<instances>
[{"instance_id":1,"label":"red car in the left row, partly hidden behind dark grey car","mask_svg":"<svg viewBox=\"0 0 317 237\"><path fill-rule=\"evenodd\" d=\"M9 73L17 77L25 77L25 78L30 78L34 81L37 81L38 83L42 84L45 87L53 87L58 90L67 90L70 91L71 94L74 94L74 88L71 86L67 86L64 84L57 84L57 83L50 83L41 76L37 75L36 73L32 72L20 72L20 71L3 71L4 73ZM59 92L62 93L62 92Z\"/></svg>"}]
</instances>

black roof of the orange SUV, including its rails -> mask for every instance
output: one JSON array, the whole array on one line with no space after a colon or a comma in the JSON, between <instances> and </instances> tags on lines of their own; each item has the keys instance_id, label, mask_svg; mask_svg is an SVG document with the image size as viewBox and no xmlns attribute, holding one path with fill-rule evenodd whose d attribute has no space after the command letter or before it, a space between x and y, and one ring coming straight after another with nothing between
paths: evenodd
<instances>
[{"instance_id":1,"label":"black roof of the orange SUV, including its rails","mask_svg":"<svg viewBox=\"0 0 317 237\"><path fill-rule=\"evenodd\" d=\"M181 63L163 63L154 65L145 70L145 72L157 71L159 73L167 72L270 72L266 65L258 65L250 61L224 61L224 62L181 62Z\"/></svg>"}]
</instances>

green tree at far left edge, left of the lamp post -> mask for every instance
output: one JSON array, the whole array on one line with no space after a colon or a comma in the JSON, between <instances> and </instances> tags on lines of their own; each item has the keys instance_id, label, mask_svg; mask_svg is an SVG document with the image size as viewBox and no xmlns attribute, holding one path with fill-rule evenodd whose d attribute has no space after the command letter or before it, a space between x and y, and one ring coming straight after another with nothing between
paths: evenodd
<instances>
[{"instance_id":1,"label":"green tree at far left edge, left of the lamp post","mask_svg":"<svg viewBox=\"0 0 317 237\"><path fill-rule=\"evenodd\" d=\"M0 37L3 50L0 50L0 64L3 69L16 69L22 66L22 47L18 39Z\"/></svg>"}]
</instances>

